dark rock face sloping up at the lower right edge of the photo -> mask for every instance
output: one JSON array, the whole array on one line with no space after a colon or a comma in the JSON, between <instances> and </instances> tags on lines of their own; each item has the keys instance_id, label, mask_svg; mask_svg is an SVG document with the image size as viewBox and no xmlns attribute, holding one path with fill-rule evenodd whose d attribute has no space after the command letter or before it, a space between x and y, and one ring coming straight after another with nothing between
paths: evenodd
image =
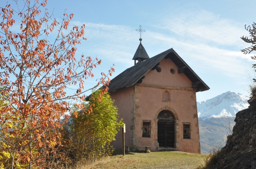
<instances>
[{"instance_id":1,"label":"dark rock face sloping up at the lower right edge of the photo","mask_svg":"<svg viewBox=\"0 0 256 169\"><path fill-rule=\"evenodd\" d=\"M236 113L233 134L206 168L256 169L256 100L248 103L248 109Z\"/></svg>"}]
</instances>

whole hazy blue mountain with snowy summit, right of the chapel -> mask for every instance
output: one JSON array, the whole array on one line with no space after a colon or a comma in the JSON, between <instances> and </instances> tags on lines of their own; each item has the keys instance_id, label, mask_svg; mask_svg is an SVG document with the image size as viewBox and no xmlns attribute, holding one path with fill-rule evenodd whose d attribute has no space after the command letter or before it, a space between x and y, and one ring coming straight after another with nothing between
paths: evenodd
<instances>
[{"instance_id":1,"label":"whole hazy blue mountain with snowy summit, right of the chapel","mask_svg":"<svg viewBox=\"0 0 256 169\"><path fill-rule=\"evenodd\" d=\"M236 113L247 109L249 97L227 91L206 101L197 102L201 153L209 153L212 147L223 147L233 131Z\"/></svg>"}]
</instances>

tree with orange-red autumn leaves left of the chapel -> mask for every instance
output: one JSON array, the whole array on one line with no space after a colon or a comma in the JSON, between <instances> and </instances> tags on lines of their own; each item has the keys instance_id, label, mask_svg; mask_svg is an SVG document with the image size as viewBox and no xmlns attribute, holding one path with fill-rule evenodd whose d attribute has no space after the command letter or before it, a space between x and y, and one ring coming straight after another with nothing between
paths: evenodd
<instances>
[{"instance_id":1,"label":"tree with orange-red autumn leaves left of the chapel","mask_svg":"<svg viewBox=\"0 0 256 169\"><path fill-rule=\"evenodd\" d=\"M76 45L86 38L85 25L69 26L73 14L65 13L58 22L45 8L47 0L14 1L16 7L0 8L0 86L5 86L0 94L8 100L0 109L0 148L7 153L7 168L44 168L42 153L54 151L40 148L62 144L60 119L68 116L71 100L85 98L90 89L84 80L94 76L92 69L101 60L75 56ZM107 86L108 74L101 73L97 86ZM74 94L67 94L67 88Z\"/></svg>"}]
</instances>

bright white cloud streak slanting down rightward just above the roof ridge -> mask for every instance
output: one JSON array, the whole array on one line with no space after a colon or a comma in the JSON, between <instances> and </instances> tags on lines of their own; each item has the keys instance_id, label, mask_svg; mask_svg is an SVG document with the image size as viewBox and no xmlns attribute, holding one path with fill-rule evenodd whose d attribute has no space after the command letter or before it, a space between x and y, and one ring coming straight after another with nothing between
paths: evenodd
<instances>
[{"instance_id":1,"label":"bright white cloud streak slanting down rightward just above the roof ridge","mask_svg":"<svg viewBox=\"0 0 256 169\"><path fill-rule=\"evenodd\" d=\"M165 44L164 46L173 46L173 49L187 63L192 63L192 65L189 64L191 67L197 67L204 71L241 76L244 74L241 70L253 63L253 60L250 59L251 55L244 55L239 50L220 49L191 40L180 41L155 32L150 32L149 36L154 39L154 43L161 41L162 44Z\"/></svg>"}]
</instances>

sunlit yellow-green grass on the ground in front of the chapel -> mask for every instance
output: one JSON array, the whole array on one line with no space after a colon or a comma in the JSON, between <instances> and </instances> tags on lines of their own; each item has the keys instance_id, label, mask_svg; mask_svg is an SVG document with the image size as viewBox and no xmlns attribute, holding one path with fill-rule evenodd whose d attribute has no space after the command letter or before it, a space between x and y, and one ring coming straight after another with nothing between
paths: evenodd
<instances>
[{"instance_id":1,"label":"sunlit yellow-green grass on the ground in front of the chapel","mask_svg":"<svg viewBox=\"0 0 256 169\"><path fill-rule=\"evenodd\" d=\"M176 151L157 151L151 153L137 151L123 156L121 150L115 150L112 156L76 169L196 169L198 166L203 165L206 156Z\"/></svg>"}]
</instances>

